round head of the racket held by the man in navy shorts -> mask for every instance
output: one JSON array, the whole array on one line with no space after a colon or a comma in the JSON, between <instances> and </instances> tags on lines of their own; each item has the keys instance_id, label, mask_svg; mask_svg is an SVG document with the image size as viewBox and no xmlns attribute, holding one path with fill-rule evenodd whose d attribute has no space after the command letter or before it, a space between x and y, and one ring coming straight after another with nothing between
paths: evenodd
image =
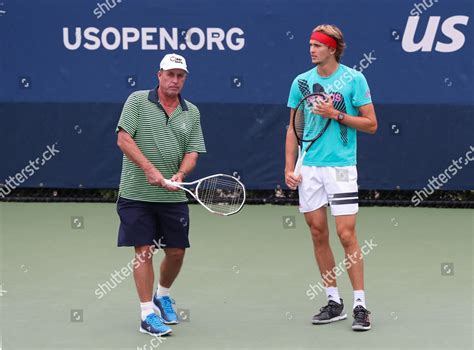
<instances>
[{"instance_id":1,"label":"round head of the racket held by the man in navy shorts","mask_svg":"<svg viewBox=\"0 0 474 350\"><path fill-rule=\"evenodd\" d=\"M221 214L236 212L245 200L245 189L231 177L216 176L203 180L197 189L199 200Z\"/></svg>"}]
</instances>

